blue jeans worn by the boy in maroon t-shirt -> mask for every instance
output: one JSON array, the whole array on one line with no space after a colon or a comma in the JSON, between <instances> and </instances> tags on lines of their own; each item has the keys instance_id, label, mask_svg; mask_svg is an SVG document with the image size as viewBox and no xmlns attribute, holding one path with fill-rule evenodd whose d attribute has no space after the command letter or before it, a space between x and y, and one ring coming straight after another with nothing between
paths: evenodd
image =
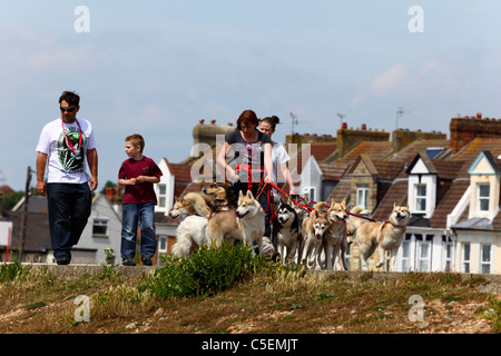
<instances>
[{"instance_id":1,"label":"blue jeans worn by the boy in maroon t-shirt","mask_svg":"<svg viewBox=\"0 0 501 356\"><path fill-rule=\"evenodd\" d=\"M140 220L143 258L151 258L157 250L157 236L155 233L155 204L124 204L121 217L121 258L132 259L136 255L137 226Z\"/></svg>"}]
</instances>

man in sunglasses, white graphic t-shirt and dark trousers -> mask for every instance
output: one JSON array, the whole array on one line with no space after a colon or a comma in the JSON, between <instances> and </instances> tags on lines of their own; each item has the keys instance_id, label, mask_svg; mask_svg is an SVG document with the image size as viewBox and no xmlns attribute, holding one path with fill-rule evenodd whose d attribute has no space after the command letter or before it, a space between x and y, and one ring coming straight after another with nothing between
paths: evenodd
<instances>
[{"instance_id":1,"label":"man in sunglasses, white graphic t-shirt and dark trousers","mask_svg":"<svg viewBox=\"0 0 501 356\"><path fill-rule=\"evenodd\" d=\"M89 121L77 119L79 103L77 93L62 92L61 117L43 127L37 145L37 191L47 194L50 239L58 265L70 263L71 247L78 244L90 216L90 192L98 185L94 130Z\"/></svg>"}]
</instances>

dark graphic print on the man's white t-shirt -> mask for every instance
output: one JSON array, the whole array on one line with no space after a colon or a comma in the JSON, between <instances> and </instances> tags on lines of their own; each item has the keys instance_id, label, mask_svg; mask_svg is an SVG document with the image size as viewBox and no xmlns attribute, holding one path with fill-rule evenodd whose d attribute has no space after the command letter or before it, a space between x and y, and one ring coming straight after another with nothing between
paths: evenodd
<instances>
[{"instance_id":1,"label":"dark graphic print on the man's white t-shirt","mask_svg":"<svg viewBox=\"0 0 501 356\"><path fill-rule=\"evenodd\" d=\"M66 137L73 146L73 148L68 147L65 138L65 132L61 132L58 139L58 156L62 167L61 171L65 174L81 174L84 172L87 136L81 132L81 147L79 145L80 130L78 127L66 129Z\"/></svg>"}]
</instances>

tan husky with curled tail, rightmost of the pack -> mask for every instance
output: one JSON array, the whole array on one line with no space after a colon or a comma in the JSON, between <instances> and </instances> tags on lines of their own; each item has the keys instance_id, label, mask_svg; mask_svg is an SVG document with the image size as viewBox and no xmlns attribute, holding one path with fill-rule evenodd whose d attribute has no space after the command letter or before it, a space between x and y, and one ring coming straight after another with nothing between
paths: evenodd
<instances>
[{"instance_id":1,"label":"tan husky with curled tail, rightmost of the pack","mask_svg":"<svg viewBox=\"0 0 501 356\"><path fill-rule=\"evenodd\" d=\"M358 214L362 210L361 206L356 206L351 212ZM380 261L376 268L384 265L384 253L391 251L390 270L395 269L396 253L402 244L410 218L409 206L397 206L396 202L393 204L390 219L384 222L362 222L353 216L350 217L350 221L356 229L356 241L358 243L362 268L364 270L369 269L367 259L374 254L376 248L379 248L380 253Z\"/></svg>"}]
</instances>

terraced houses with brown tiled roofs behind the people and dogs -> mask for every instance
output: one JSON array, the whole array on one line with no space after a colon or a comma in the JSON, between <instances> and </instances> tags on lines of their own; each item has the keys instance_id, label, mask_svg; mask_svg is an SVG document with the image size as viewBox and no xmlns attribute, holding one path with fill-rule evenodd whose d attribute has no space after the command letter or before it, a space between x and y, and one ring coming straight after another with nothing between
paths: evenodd
<instances>
[{"instance_id":1,"label":"terraced houses with brown tiled roofs behind the people and dogs","mask_svg":"<svg viewBox=\"0 0 501 356\"><path fill-rule=\"evenodd\" d=\"M193 129L194 147L205 144L198 147L206 151L194 150L177 164L168 158L158 162L164 172L155 187L158 254L169 253L176 241L179 221L168 217L175 197L198 191L209 181L209 177L204 181L191 177L204 176L204 167L214 165L220 142L216 136L233 130L232 125L199 120ZM353 129L346 123L335 134L286 137L286 144L296 148L289 151L289 169L302 195L316 201L346 199L352 207L364 206L363 214L380 221L389 218L394 202L409 205L412 219L397 254L397 270L501 274L501 120L481 113L454 117L449 138L435 131L399 129L390 134L365 125ZM288 192L286 185L281 187ZM104 198L95 199L90 224L75 247L73 259L100 263L104 248L119 251L119 192L109 189ZM17 209L22 211L21 207L22 202ZM43 212L39 210L37 214ZM19 220L17 212L12 220ZM39 217L32 220L41 221ZM28 234L27 250L39 260L50 260L48 231L41 234L47 226L32 229L38 234ZM20 241L16 224L12 230L11 245L16 246ZM376 258L371 260L372 268ZM356 243L348 260L351 269L360 268Z\"/></svg>"}]
</instances>

